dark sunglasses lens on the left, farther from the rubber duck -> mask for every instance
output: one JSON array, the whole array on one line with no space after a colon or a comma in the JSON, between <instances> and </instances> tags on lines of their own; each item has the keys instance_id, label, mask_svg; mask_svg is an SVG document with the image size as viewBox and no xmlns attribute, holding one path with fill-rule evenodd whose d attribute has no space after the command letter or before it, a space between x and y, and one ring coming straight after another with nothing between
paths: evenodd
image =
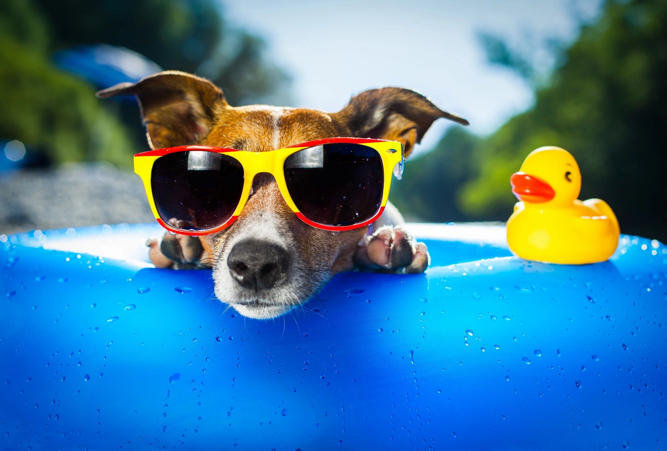
<instances>
[{"instance_id":1,"label":"dark sunglasses lens on the left, farther from the rubber duck","mask_svg":"<svg viewBox=\"0 0 667 451\"><path fill-rule=\"evenodd\" d=\"M153 163L151 188L162 221L176 219L182 230L209 230L233 215L243 190L243 167L223 153L170 153Z\"/></svg>"}]
</instances>

